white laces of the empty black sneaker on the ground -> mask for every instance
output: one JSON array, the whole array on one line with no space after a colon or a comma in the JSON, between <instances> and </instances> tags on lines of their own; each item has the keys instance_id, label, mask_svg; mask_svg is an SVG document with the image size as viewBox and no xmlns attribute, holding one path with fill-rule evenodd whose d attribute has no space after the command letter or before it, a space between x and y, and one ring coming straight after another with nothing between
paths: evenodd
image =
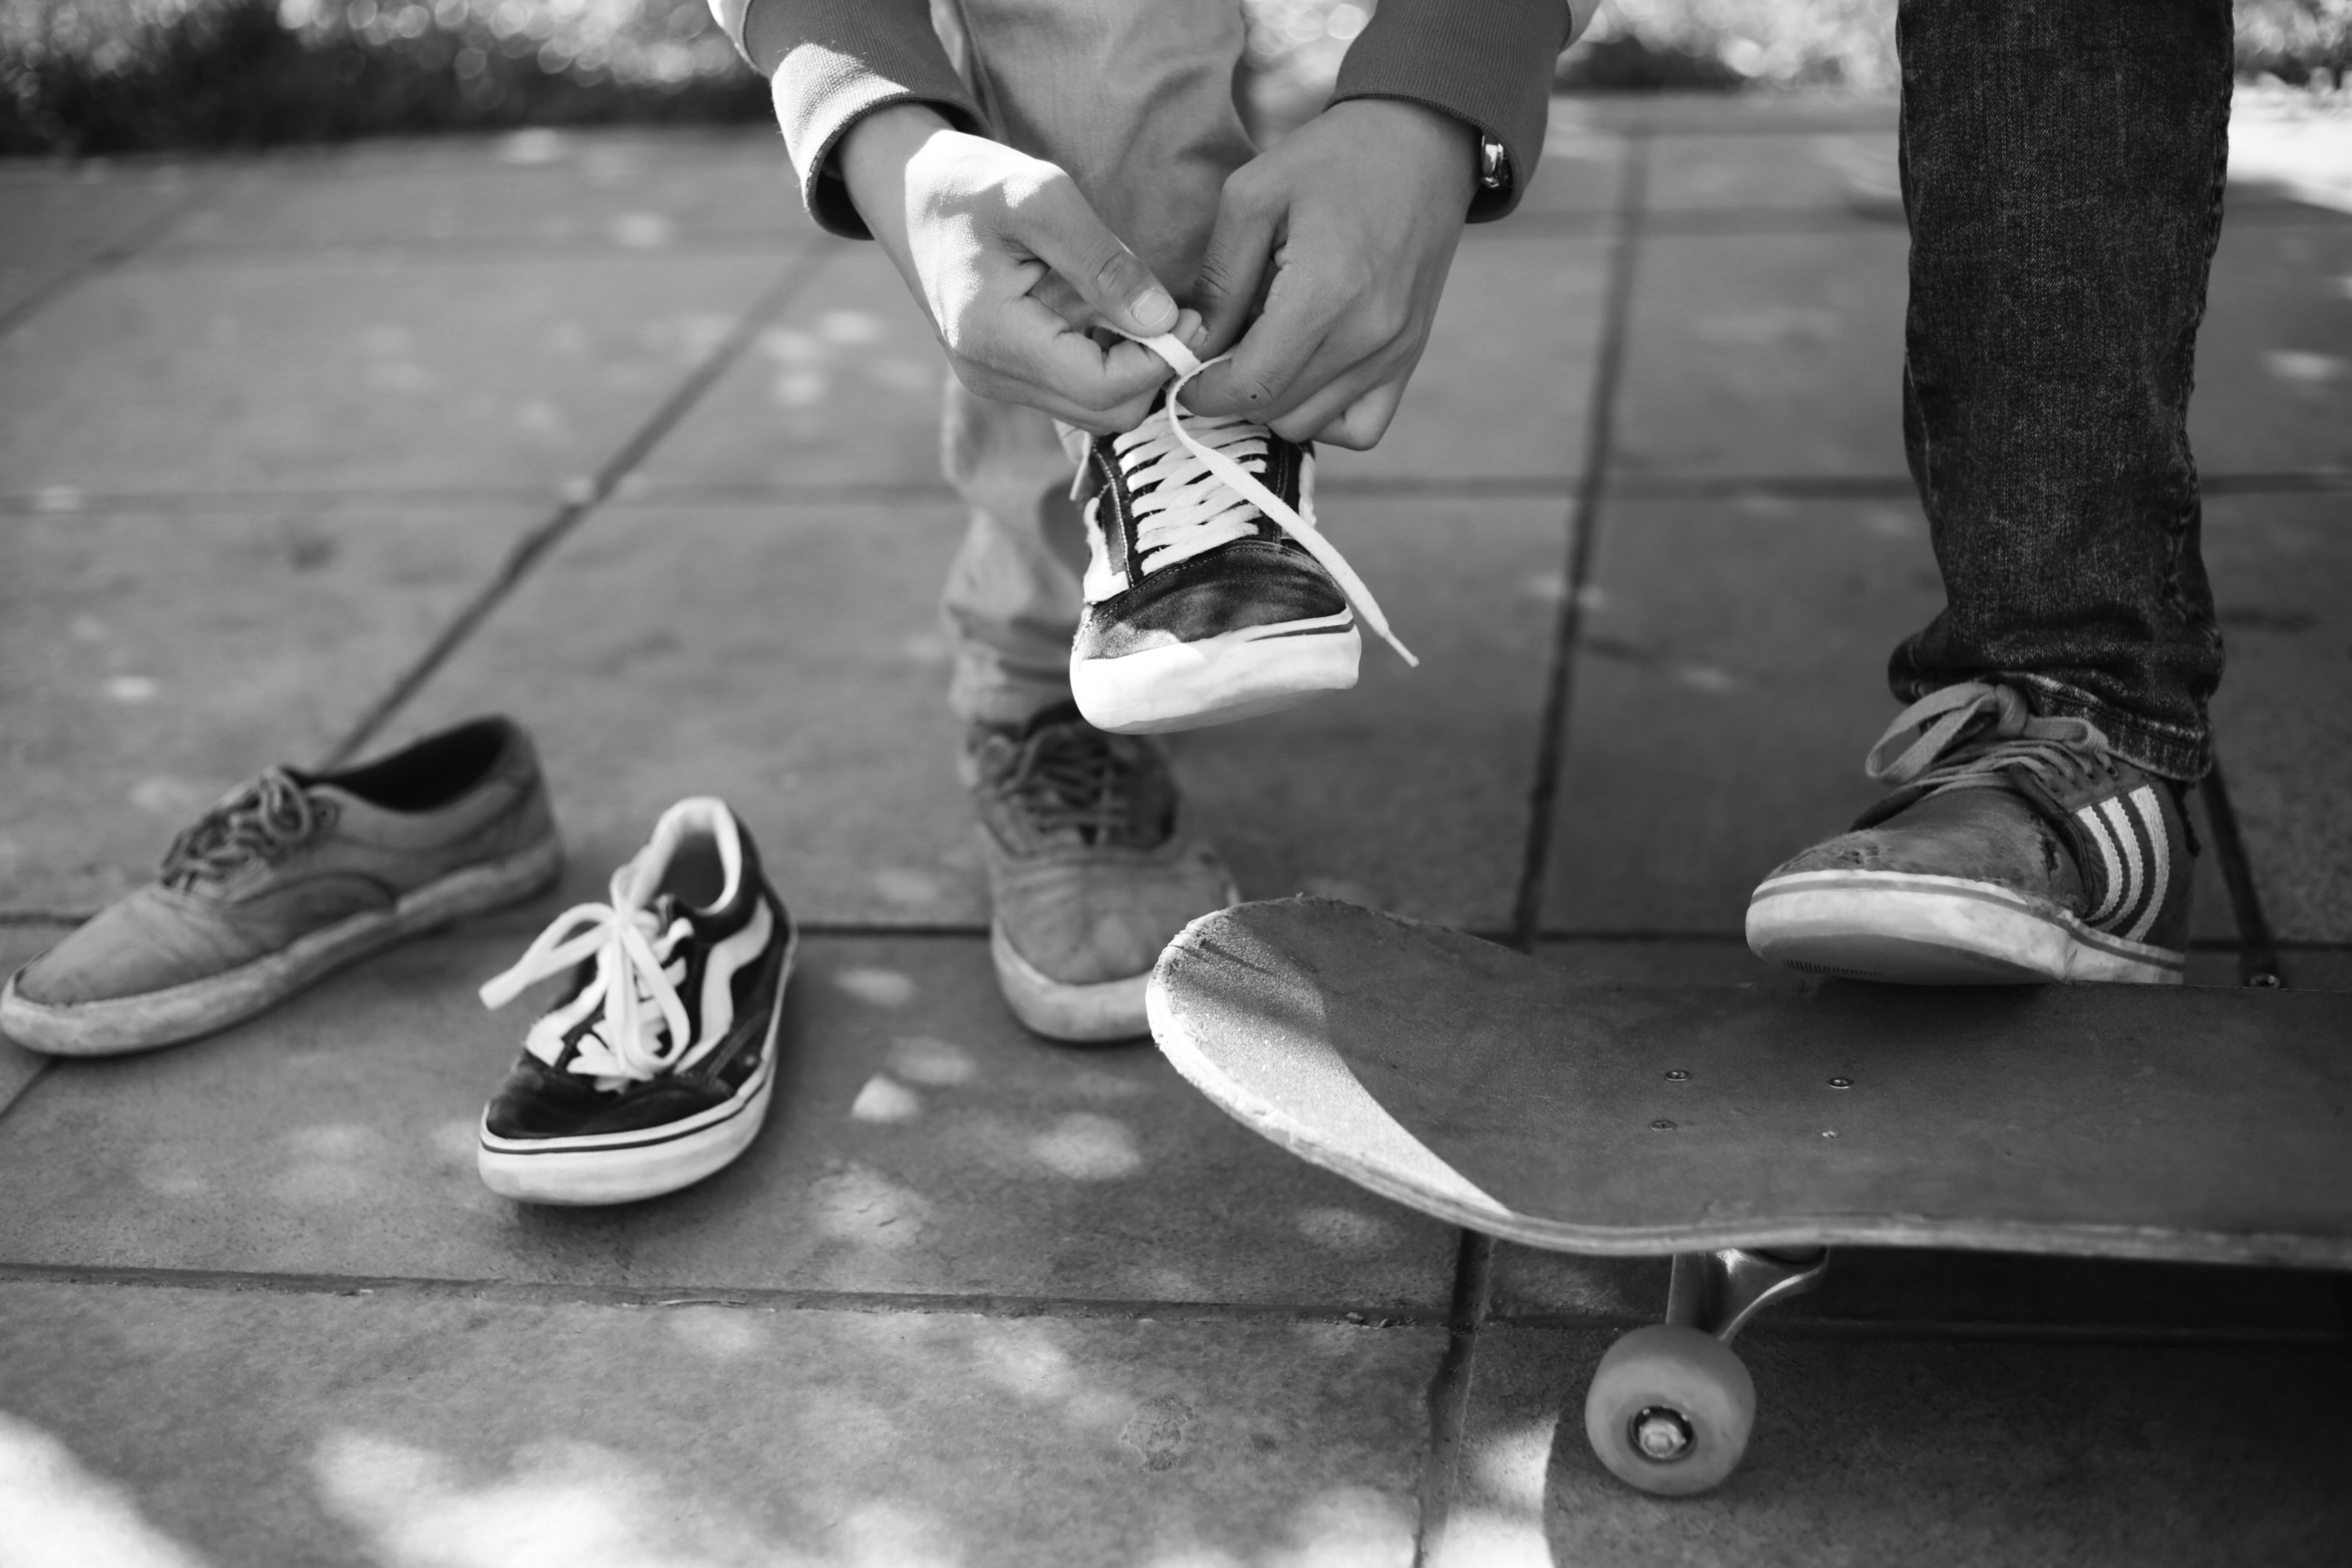
<instances>
[{"instance_id":1,"label":"white laces of the empty black sneaker on the ground","mask_svg":"<svg viewBox=\"0 0 2352 1568\"><path fill-rule=\"evenodd\" d=\"M532 985L595 959L595 978L581 994L532 1025L522 1048L555 1067L564 1034L602 1006L602 1020L579 1039L572 1072L595 1077L597 1088L642 1084L677 1065L691 1044L687 1004L677 997L684 961L670 952L691 936L684 917L663 931L661 919L630 903L635 865L612 875L612 903L581 903L557 914L513 969L482 985L482 1004L501 1009ZM677 973L670 973L670 971Z\"/></svg>"}]
</instances>

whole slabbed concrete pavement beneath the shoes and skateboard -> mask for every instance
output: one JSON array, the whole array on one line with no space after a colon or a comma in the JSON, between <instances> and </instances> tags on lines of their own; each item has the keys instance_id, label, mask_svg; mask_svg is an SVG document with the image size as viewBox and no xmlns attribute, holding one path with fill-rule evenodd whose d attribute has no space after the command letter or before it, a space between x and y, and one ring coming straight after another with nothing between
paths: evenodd
<instances>
[{"instance_id":1,"label":"whole slabbed concrete pavement beneath the shoes and skateboard","mask_svg":"<svg viewBox=\"0 0 2352 1568\"><path fill-rule=\"evenodd\" d=\"M1867 799L1938 592L1889 148L1875 106L1557 106L1392 437L1327 465L1423 670L1371 649L1350 696L1178 738L1244 893L1783 983L1745 891ZM2199 348L2223 985L2352 985L2321 197L2232 188ZM1743 1340L1748 1469L1661 1502L1578 1425L1661 1262L1465 1248L1148 1046L1025 1037L941 701L943 371L774 136L0 167L0 964L266 762L468 712L534 729L572 851L543 905L219 1039L0 1041L0 1561L26 1519L216 1568L2352 1554L2333 1279L1839 1258ZM809 926L779 1114L673 1199L494 1199L470 1128L520 1025L473 987L687 792Z\"/></svg>"}]
</instances>

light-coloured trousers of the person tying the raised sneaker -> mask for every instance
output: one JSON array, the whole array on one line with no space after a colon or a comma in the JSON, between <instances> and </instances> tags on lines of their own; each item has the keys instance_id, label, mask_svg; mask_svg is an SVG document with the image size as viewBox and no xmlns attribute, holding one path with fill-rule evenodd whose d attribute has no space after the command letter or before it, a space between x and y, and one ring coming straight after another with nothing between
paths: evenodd
<instances>
[{"instance_id":1,"label":"light-coloured trousers of the person tying the raised sneaker","mask_svg":"<svg viewBox=\"0 0 2352 1568\"><path fill-rule=\"evenodd\" d=\"M1254 148L1232 106L1240 0L934 0L934 21L1000 141L1068 169L1169 284L1192 287L1216 197ZM1018 724L1070 701L1087 541L1054 421L948 378L941 465L971 510L941 611L948 701Z\"/></svg>"}]
</instances>

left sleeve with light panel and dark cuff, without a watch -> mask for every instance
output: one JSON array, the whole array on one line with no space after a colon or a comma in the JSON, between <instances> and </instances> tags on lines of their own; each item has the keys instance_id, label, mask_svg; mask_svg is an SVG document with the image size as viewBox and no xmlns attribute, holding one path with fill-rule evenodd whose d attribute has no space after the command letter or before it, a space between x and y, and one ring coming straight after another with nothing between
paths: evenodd
<instances>
[{"instance_id":1,"label":"left sleeve with light panel and dark cuff, without a watch","mask_svg":"<svg viewBox=\"0 0 2352 1568\"><path fill-rule=\"evenodd\" d=\"M720 26L769 78L800 200L830 233L870 240L833 162L861 118L927 103L957 129L981 129L971 94L931 31L929 0L710 0Z\"/></svg>"}]
</instances>

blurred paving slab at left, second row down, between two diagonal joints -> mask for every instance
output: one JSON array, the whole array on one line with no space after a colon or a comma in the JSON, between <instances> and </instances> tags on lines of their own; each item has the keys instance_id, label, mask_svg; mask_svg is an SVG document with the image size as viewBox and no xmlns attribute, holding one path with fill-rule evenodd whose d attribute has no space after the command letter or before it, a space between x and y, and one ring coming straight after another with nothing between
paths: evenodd
<instances>
[{"instance_id":1,"label":"blurred paving slab at left, second row down, between two diagonal joints","mask_svg":"<svg viewBox=\"0 0 2352 1568\"><path fill-rule=\"evenodd\" d=\"M0 341L19 494L534 489L595 473L774 256L125 266Z\"/></svg>"}]
</instances>

